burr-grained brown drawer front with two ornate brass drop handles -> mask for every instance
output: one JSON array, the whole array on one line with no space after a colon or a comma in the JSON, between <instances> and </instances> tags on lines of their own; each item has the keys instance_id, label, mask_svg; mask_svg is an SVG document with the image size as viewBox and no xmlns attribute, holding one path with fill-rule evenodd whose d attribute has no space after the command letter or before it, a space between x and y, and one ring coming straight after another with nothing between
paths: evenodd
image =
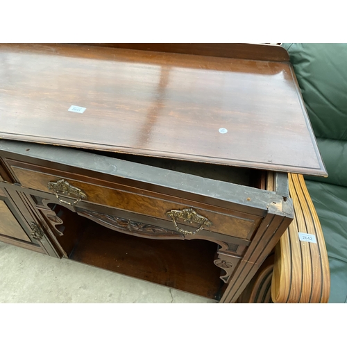
<instances>
[{"instance_id":1,"label":"burr-grained brown drawer front with two ornate brass drop handles","mask_svg":"<svg viewBox=\"0 0 347 347\"><path fill-rule=\"evenodd\" d=\"M105 181L101 181L100 185L85 182L85 177L63 171L59 171L57 175L54 175L55 171L53 169L38 167L32 164L25 164L25 168L19 167L18 164L12 164L11 168L23 187L54 194L53 189L49 189L50 186L52 187L52 183L65 180L65 185L68 183L72 191L74 191L70 197L81 191L80 197L82 201L144 214L157 219L169 220L173 221L173 223L175 219L176 229L183 230L179 226L183 225L188 227L186 228L187 230L192 230L189 232L198 232L199 229L204 229L241 239L250 239L261 221L259 216L254 216L252 219L249 218L249 215L243 215L242 212L238 212L239 215L219 213L210 210L210 205L205 205L205 207L201 203L194 203L194 201L183 198L173 198L164 194L153 194L153 192L143 189L133 189L124 185L119 187L119 189L115 189L101 185ZM50 173L42 171L49 171ZM74 178L71 178L71 176ZM75 198L77 195L74 195L72 199L67 199L67 194L65 194L62 187L59 189L58 196L60 203L67 201L74 204L79 199ZM189 208L193 210L190 213L187 211ZM170 213L168 214L168 212ZM194 222L190 223L192 219L194 219Z\"/></svg>"}]
</instances>

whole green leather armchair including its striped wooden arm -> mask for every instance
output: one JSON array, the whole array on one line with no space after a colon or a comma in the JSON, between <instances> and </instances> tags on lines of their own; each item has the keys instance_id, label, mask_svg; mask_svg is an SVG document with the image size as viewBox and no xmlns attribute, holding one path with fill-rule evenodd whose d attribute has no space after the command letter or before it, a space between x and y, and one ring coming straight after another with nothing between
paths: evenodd
<instances>
[{"instance_id":1,"label":"whole green leather armchair including its striped wooden arm","mask_svg":"<svg viewBox=\"0 0 347 347\"><path fill-rule=\"evenodd\" d=\"M238 302L347 303L347 44L282 46L329 176L289 174L294 221Z\"/></svg>"}]
</instances>

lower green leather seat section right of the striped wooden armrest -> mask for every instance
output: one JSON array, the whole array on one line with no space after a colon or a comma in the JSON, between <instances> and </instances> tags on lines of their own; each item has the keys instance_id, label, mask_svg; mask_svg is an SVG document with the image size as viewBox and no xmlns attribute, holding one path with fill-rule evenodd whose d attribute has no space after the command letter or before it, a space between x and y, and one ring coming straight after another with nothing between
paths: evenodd
<instances>
[{"instance_id":1,"label":"lower green leather seat section right of the striped wooden armrest","mask_svg":"<svg viewBox=\"0 0 347 347\"><path fill-rule=\"evenodd\" d=\"M330 266L330 303L347 300L347 187L306 181L321 222Z\"/></svg>"}]
</instances>

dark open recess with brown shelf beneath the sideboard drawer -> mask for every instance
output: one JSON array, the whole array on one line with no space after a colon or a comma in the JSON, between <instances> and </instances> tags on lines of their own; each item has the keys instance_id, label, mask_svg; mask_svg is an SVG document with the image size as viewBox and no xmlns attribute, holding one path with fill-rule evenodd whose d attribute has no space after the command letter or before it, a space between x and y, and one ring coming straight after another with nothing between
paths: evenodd
<instances>
[{"instance_id":1,"label":"dark open recess with brown shelf beneath the sideboard drawer","mask_svg":"<svg viewBox=\"0 0 347 347\"><path fill-rule=\"evenodd\" d=\"M69 244L63 248L69 248L65 251L71 260L219 299L223 286L219 278L221 269L213 262L217 244L199 239L159 240L126 235L63 210L64 213L60 212L63 220L74 217L74 230L69 231L69 226L64 223L64 236L61 237L62 241L65 239L61 245ZM66 239L74 240L74 246Z\"/></svg>"}]
</instances>

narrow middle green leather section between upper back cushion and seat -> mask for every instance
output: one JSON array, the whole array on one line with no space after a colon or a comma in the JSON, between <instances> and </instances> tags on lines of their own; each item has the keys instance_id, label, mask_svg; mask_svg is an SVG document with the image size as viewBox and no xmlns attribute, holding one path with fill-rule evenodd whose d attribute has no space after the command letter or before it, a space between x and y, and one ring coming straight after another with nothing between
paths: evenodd
<instances>
[{"instance_id":1,"label":"narrow middle green leather section between upper back cushion and seat","mask_svg":"<svg viewBox=\"0 0 347 347\"><path fill-rule=\"evenodd\" d=\"M347 141L318 138L317 144L329 176L305 176L305 179L347 187Z\"/></svg>"}]
</instances>

